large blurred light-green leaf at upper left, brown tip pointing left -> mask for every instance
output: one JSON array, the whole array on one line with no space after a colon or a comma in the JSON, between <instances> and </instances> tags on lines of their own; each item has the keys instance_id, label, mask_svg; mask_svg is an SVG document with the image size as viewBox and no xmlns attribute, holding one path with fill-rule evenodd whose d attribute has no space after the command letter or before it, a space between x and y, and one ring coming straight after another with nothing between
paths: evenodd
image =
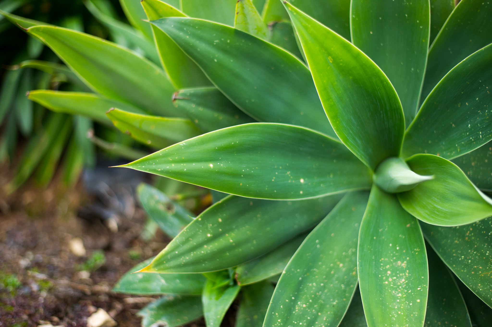
<instances>
[{"instance_id":1,"label":"large blurred light-green leaf at upper left, brown tip pointing left","mask_svg":"<svg viewBox=\"0 0 492 327\"><path fill-rule=\"evenodd\" d=\"M61 28L31 27L92 89L109 98L169 116L175 91L164 72L145 58L95 36Z\"/></svg>"}]
</instances>

